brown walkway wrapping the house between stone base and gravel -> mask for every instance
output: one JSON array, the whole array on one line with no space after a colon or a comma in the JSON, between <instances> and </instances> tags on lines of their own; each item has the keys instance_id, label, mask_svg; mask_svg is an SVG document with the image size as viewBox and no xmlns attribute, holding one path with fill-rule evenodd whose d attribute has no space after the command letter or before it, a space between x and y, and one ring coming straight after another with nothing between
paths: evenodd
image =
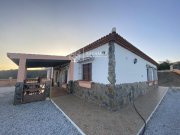
<instances>
[{"instance_id":1,"label":"brown walkway wrapping the house between stone base and gravel","mask_svg":"<svg viewBox=\"0 0 180 135\"><path fill-rule=\"evenodd\" d=\"M145 96L140 96L135 101L139 112L146 119L167 89L159 87ZM88 135L137 134L143 125L132 105L112 112L74 95L64 95L52 99Z\"/></svg>"}]
</instances>

